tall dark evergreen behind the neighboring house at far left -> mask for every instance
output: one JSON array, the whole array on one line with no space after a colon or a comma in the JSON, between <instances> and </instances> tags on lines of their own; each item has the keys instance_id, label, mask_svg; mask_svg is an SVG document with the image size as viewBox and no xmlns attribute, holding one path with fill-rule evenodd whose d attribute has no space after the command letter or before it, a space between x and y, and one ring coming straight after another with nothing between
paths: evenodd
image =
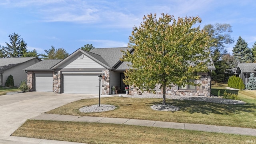
<instances>
[{"instance_id":1,"label":"tall dark evergreen behind the neighboring house at far left","mask_svg":"<svg viewBox=\"0 0 256 144\"><path fill-rule=\"evenodd\" d=\"M13 33L8 36L10 44L5 42L7 46L2 46L1 53L5 58L21 57L27 52L27 43L24 42L20 35Z\"/></svg>"}]
</instances>

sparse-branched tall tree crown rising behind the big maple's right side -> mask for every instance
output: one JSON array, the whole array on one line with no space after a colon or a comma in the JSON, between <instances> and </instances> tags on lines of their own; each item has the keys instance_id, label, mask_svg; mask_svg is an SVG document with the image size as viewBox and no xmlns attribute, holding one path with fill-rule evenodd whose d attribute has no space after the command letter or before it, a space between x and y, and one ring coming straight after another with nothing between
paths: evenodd
<instances>
[{"instance_id":1,"label":"sparse-branched tall tree crown rising behind the big maple's right side","mask_svg":"<svg viewBox=\"0 0 256 144\"><path fill-rule=\"evenodd\" d=\"M216 49L223 53L225 52L226 44L234 43L234 38L230 36L230 33L233 32L230 24L208 24L203 29L211 36L212 44L210 50L212 53Z\"/></svg>"}]
</instances>

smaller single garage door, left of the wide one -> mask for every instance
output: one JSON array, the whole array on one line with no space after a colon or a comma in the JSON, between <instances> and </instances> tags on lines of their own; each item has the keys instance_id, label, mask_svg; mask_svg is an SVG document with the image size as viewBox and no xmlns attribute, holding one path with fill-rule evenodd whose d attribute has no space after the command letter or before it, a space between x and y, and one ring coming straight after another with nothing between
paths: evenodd
<instances>
[{"instance_id":1,"label":"smaller single garage door, left of the wide one","mask_svg":"<svg viewBox=\"0 0 256 144\"><path fill-rule=\"evenodd\" d=\"M35 74L36 91L52 92L52 74Z\"/></svg>"}]
</instances>

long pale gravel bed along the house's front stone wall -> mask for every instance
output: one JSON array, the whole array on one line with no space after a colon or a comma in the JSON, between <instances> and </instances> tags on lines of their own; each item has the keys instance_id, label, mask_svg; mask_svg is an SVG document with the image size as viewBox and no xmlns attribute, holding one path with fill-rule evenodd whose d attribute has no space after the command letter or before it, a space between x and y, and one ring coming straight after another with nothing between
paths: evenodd
<instances>
[{"instance_id":1,"label":"long pale gravel bed along the house's front stone wall","mask_svg":"<svg viewBox=\"0 0 256 144\"><path fill-rule=\"evenodd\" d=\"M163 98L162 94L142 94L142 95L123 95L123 97L128 98ZM166 95L168 99L175 100L194 100L194 101L204 101L204 102L214 102L219 104L246 104L241 100L230 100L218 97L206 97L206 96L177 96L177 95Z\"/></svg>"}]
</instances>

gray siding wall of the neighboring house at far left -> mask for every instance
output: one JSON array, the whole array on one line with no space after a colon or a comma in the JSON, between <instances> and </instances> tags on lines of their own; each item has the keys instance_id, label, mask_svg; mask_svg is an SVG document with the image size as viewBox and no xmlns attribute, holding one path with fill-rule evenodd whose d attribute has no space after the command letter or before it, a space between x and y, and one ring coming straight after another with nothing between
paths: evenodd
<instances>
[{"instance_id":1,"label":"gray siding wall of the neighboring house at far left","mask_svg":"<svg viewBox=\"0 0 256 144\"><path fill-rule=\"evenodd\" d=\"M17 66L14 66L12 68L9 68L8 70L5 70L3 73L3 80L2 80L2 86L5 86L6 79L10 74L13 76L14 79L14 86L20 86L20 82L22 80L27 80L27 73L24 72L24 68L27 68L28 66L31 66L33 64L36 64L40 60L38 59L32 59L27 62L24 62L22 64L18 64Z\"/></svg>"}]
</instances>

